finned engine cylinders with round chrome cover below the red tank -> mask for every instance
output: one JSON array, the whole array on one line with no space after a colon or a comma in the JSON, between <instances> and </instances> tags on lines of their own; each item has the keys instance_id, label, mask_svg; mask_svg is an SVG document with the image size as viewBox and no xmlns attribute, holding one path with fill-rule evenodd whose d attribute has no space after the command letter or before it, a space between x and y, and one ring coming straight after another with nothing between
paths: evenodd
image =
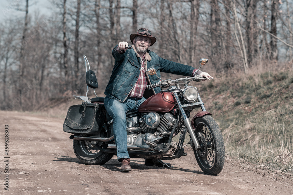
<instances>
[{"instance_id":1,"label":"finned engine cylinders with round chrome cover below the red tank","mask_svg":"<svg viewBox=\"0 0 293 195\"><path fill-rule=\"evenodd\" d=\"M155 112L142 115L139 119L139 124L144 133L152 133L155 135L160 134L163 131L170 131L175 125L175 118L170 113L160 115Z\"/></svg>"}]
</instances>

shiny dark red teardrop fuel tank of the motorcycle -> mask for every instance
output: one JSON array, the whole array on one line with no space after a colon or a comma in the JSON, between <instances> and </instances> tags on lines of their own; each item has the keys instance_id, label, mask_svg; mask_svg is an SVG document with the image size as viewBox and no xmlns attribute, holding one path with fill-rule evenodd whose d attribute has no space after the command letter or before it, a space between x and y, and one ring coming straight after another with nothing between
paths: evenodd
<instances>
[{"instance_id":1,"label":"shiny dark red teardrop fuel tank of the motorcycle","mask_svg":"<svg viewBox=\"0 0 293 195\"><path fill-rule=\"evenodd\" d=\"M138 108L139 112L169 112L175 105L171 92L160 92L149 97Z\"/></svg>"}]
</instances>

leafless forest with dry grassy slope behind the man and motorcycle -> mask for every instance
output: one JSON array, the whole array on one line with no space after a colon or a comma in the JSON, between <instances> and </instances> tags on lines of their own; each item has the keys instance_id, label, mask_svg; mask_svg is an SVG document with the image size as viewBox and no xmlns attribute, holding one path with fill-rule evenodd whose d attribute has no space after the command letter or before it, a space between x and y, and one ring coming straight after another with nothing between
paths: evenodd
<instances>
[{"instance_id":1,"label":"leafless forest with dry grassy slope behind the man and motorcycle","mask_svg":"<svg viewBox=\"0 0 293 195\"><path fill-rule=\"evenodd\" d=\"M197 87L227 158L291 171L292 0L52 0L49 14L31 12L35 2L1 8L3 15L23 11L0 22L1 110L44 111L84 95L83 55L104 96L111 50L146 27L157 38L149 49L162 58L195 68L209 59L202 70L215 79Z\"/></svg>"}]
</instances>

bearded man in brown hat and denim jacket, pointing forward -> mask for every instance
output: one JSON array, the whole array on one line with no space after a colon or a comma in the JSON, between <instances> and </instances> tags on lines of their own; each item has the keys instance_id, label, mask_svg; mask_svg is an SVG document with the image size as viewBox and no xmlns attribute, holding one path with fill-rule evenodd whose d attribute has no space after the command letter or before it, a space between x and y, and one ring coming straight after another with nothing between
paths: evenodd
<instances>
[{"instance_id":1,"label":"bearded man in brown hat and denim jacket, pointing forward","mask_svg":"<svg viewBox=\"0 0 293 195\"><path fill-rule=\"evenodd\" d=\"M159 57L148 48L156 42L151 36L151 31L141 28L137 33L130 34L132 46L128 48L127 42L120 42L112 50L115 65L109 83L105 89L104 105L109 115L113 118L113 131L117 147L117 159L121 162L120 172L131 171L130 157L127 151L126 112L137 110L146 100L143 95L147 84L159 81L154 75L147 75L149 68L155 68L158 77L160 71L184 76L194 76L197 69L192 66L168 61ZM197 74L213 78L208 73L198 71ZM160 87L152 89L156 94ZM146 159L145 165L157 165L152 160Z\"/></svg>"}]
</instances>

